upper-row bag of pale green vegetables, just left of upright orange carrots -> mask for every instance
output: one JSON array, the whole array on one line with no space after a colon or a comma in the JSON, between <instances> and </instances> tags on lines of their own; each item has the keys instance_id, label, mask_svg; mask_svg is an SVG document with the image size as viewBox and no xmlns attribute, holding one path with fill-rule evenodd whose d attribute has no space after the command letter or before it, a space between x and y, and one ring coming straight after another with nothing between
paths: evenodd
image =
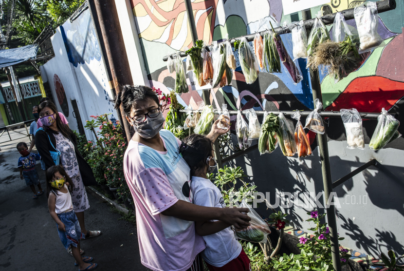
<instances>
[{"instance_id":1,"label":"upper-row bag of pale green vegetables, just left of upright orange carrots","mask_svg":"<svg viewBox=\"0 0 404 271\"><path fill-rule=\"evenodd\" d=\"M247 39L242 37L239 44L239 61L247 84L254 83L258 78L258 60Z\"/></svg>"}]
</instances>

